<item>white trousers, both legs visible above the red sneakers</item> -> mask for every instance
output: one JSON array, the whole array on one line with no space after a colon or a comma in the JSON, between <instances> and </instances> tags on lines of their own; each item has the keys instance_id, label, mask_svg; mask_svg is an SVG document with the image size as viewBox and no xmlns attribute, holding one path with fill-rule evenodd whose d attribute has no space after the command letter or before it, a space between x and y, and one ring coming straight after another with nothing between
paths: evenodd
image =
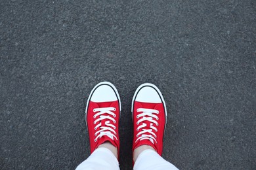
<instances>
[{"instance_id":1,"label":"white trousers, both legs visible above the red sneakers","mask_svg":"<svg viewBox=\"0 0 256 170\"><path fill-rule=\"evenodd\" d=\"M83 161L77 170L89 169L89 170L119 170L119 163L114 156L114 154L107 148L97 148L87 160ZM169 161L164 160L161 156L154 150L144 150L141 152L135 162L133 167L135 170L161 170L161 169L171 169L176 170L175 165L169 163Z\"/></svg>"}]
</instances>

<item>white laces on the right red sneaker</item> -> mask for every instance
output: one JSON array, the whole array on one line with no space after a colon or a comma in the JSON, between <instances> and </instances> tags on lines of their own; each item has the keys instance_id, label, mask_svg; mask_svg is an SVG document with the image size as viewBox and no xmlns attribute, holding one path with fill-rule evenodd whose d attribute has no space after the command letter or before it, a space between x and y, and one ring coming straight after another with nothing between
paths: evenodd
<instances>
[{"instance_id":1,"label":"white laces on the right red sneaker","mask_svg":"<svg viewBox=\"0 0 256 170\"><path fill-rule=\"evenodd\" d=\"M142 123L142 125L140 125L140 126L137 128L137 131L139 131L139 129L141 129L141 128L142 128L142 131L140 131L140 132L136 135L136 137L138 137L138 138L137 138L137 140L135 141L135 143L136 143L138 140L142 141L142 140L145 140L145 139L148 139L148 140L149 140L150 142L152 142L153 144L154 144L154 141L155 141L156 143L158 143L158 142L156 141L156 137L157 137L157 136L156 136L156 134L153 132L153 129L154 129L156 132L158 131L158 129L154 126L154 124L156 124L156 126L158 126L158 122L157 122L156 120L158 120L159 118L158 118L158 116L157 116L156 114L159 114L159 111L158 111L158 110L155 110L155 109L139 108L139 109L137 109L137 112L142 112L142 113L140 113L140 114L137 115L137 118L142 117L142 118L140 118L140 119L138 120L137 125L139 125L140 122L149 121L149 122L151 122L151 123L150 123L150 128L151 128L151 129L144 129L143 127L146 127L146 123ZM154 120L153 118L155 118L156 120ZM144 134L144 133L150 133L150 135L149 135L149 134ZM140 135L140 137L139 137L139 135Z\"/></svg>"}]
</instances>

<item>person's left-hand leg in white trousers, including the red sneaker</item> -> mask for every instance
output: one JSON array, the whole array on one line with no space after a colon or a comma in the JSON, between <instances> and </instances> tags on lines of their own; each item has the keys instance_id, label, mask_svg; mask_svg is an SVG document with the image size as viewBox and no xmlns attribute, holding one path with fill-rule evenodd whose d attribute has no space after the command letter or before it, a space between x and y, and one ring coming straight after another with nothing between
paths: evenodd
<instances>
[{"instance_id":1,"label":"person's left-hand leg in white trousers, including the red sneaker","mask_svg":"<svg viewBox=\"0 0 256 170\"><path fill-rule=\"evenodd\" d=\"M119 94L110 82L100 82L87 100L85 122L89 133L91 156L77 169L119 169Z\"/></svg>"}]
</instances>

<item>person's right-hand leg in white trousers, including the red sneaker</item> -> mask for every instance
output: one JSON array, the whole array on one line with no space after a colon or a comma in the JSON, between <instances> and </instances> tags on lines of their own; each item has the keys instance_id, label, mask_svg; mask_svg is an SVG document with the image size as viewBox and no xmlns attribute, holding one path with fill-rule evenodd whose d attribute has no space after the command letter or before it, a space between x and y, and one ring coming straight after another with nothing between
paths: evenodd
<instances>
[{"instance_id":1,"label":"person's right-hand leg in white trousers, including the red sneaker","mask_svg":"<svg viewBox=\"0 0 256 170\"><path fill-rule=\"evenodd\" d=\"M166 106L163 95L154 85L137 88L132 102L134 169L177 169L161 158Z\"/></svg>"}]
</instances>

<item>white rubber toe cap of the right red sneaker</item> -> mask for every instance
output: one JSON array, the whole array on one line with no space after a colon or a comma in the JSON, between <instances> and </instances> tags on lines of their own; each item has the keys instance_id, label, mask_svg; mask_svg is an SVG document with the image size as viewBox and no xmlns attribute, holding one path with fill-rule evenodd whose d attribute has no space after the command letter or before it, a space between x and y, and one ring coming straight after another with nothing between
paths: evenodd
<instances>
[{"instance_id":1,"label":"white rubber toe cap of the right red sneaker","mask_svg":"<svg viewBox=\"0 0 256 170\"><path fill-rule=\"evenodd\" d=\"M161 103L161 97L157 89L150 84L150 86L144 86L138 91L135 101L144 102L144 103Z\"/></svg>"}]
</instances>

